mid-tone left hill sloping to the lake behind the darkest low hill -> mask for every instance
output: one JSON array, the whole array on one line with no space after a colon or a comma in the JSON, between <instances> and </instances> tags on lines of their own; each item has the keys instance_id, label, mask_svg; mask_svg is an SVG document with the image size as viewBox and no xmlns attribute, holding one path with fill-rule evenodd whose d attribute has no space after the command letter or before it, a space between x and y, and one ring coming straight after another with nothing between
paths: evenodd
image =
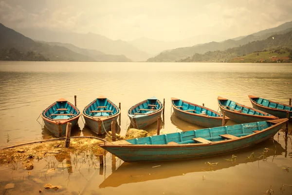
<instances>
[{"instance_id":1,"label":"mid-tone left hill sloping to the lake behind the darkest low hill","mask_svg":"<svg viewBox=\"0 0 292 195\"><path fill-rule=\"evenodd\" d=\"M40 54L51 61L130 61L125 56L106 55L96 50L83 50L72 44L37 42L0 23L0 49L9 48L15 48L20 53Z\"/></svg>"}]
</instances>

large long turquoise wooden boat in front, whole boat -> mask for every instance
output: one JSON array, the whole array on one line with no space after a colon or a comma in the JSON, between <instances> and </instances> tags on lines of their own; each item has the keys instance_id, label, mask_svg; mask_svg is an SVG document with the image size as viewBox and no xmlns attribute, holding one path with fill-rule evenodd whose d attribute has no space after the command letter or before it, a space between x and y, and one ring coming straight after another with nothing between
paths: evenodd
<instances>
[{"instance_id":1,"label":"large long turquoise wooden boat in front, whole boat","mask_svg":"<svg viewBox=\"0 0 292 195\"><path fill-rule=\"evenodd\" d=\"M216 156L247 148L274 137L287 120L282 118L104 142L99 146L126 162Z\"/></svg>"}]
</instances>

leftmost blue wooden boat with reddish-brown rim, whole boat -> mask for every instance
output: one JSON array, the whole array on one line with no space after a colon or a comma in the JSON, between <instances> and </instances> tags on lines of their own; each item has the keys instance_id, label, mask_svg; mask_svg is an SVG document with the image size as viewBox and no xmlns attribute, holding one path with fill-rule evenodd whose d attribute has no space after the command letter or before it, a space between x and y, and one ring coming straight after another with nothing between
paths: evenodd
<instances>
[{"instance_id":1,"label":"leftmost blue wooden boat with reddish-brown rim, whole boat","mask_svg":"<svg viewBox=\"0 0 292 195\"><path fill-rule=\"evenodd\" d=\"M70 122L73 127L80 115L80 111L64 98L55 101L41 113L46 128L58 137L66 135L67 123Z\"/></svg>"}]
</instances>

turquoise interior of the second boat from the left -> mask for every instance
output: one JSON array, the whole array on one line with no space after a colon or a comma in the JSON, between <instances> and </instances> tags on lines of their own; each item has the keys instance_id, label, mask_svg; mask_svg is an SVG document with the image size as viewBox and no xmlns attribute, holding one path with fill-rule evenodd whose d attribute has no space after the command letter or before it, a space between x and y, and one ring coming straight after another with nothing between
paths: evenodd
<instances>
[{"instance_id":1,"label":"turquoise interior of the second boat from the left","mask_svg":"<svg viewBox=\"0 0 292 195\"><path fill-rule=\"evenodd\" d=\"M97 98L91 102L85 113L91 117L110 117L117 114L118 110L108 98Z\"/></svg>"}]
</instances>

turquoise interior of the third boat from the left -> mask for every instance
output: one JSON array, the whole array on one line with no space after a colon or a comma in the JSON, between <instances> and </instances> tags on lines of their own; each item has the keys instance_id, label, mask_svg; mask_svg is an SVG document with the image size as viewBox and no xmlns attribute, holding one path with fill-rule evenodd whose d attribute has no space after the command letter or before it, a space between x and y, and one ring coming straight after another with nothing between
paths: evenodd
<instances>
[{"instance_id":1,"label":"turquoise interior of the third boat from the left","mask_svg":"<svg viewBox=\"0 0 292 195\"><path fill-rule=\"evenodd\" d=\"M133 109L130 109L131 115L148 115L157 112L162 108L161 102L157 98L149 98L143 103L137 105Z\"/></svg>"}]
</instances>

